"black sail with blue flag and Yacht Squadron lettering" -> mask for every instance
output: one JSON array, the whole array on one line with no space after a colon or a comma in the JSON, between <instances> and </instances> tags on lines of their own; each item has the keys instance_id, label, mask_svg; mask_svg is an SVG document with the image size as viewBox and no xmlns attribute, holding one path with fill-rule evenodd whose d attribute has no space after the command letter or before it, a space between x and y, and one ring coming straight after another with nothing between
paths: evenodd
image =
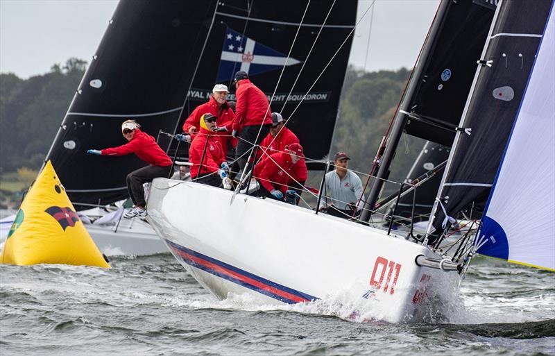
<instances>
[{"instance_id":1,"label":"black sail with blue flag and Yacht Squadron lettering","mask_svg":"<svg viewBox=\"0 0 555 356\"><path fill-rule=\"evenodd\" d=\"M249 11L247 4L251 2ZM333 3L220 3L178 132L188 113L210 98L214 83L229 85L228 100L234 100L232 76L235 71L244 70L268 99L275 91L271 110L282 112L284 119L290 118L287 126L299 137L305 155L313 159L327 155L357 14L356 0L336 1L331 8ZM288 65L282 74L289 51Z\"/></svg>"}]
</instances>

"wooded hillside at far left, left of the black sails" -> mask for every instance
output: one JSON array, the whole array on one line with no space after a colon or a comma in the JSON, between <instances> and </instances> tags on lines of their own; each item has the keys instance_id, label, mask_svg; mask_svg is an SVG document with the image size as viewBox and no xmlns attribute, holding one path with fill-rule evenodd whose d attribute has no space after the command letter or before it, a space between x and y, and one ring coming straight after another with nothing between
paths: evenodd
<instances>
[{"instance_id":1,"label":"wooded hillside at far left, left of the black sails","mask_svg":"<svg viewBox=\"0 0 555 356\"><path fill-rule=\"evenodd\" d=\"M40 169L86 66L70 58L28 79L0 74L0 173Z\"/></svg>"}]
</instances>

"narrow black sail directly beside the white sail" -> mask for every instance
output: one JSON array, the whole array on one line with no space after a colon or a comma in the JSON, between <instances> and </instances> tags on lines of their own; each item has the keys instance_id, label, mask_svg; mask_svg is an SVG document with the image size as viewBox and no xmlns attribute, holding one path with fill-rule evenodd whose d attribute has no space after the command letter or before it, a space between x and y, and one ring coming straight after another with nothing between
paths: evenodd
<instances>
[{"instance_id":1,"label":"narrow black sail directly beside the white sail","mask_svg":"<svg viewBox=\"0 0 555 356\"><path fill-rule=\"evenodd\" d=\"M461 120L433 220L434 229L487 200L520 108L552 0L502 1Z\"/></svg>"}]
</instances>

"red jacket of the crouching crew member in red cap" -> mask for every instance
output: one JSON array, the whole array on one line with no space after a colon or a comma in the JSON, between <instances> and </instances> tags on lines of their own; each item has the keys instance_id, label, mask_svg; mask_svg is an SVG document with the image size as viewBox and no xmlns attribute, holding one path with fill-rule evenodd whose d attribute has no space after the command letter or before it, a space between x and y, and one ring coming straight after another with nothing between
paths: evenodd
<instances>
[{"instance_id":1,"label":"red jacket of the crouching crew member in red cap","mask_svg":"<svg viewBox=\"0 0 555 356\"><path fill-rule=\"evenodd\" d=\"M255 177L268 192L273 191L273 189L279 189L282 193L285 193L289 189L287 187L287 182L289 182L287 173L291 174L292 167L293 164L291 163L291 155L289 153L273 153L269 157L262 158L256 165Z\"/></svg>"}]
</instances>

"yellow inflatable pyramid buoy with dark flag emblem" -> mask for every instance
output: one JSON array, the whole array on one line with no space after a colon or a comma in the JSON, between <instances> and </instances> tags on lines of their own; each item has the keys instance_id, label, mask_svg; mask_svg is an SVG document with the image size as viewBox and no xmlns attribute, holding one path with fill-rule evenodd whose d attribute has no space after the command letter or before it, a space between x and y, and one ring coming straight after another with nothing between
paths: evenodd
<instances>
[{"instance_id":1,"label":"yellow inflatable pyramid buoy with dark flag emblem","mask_svg":"<svg viewBox=\"0 0 555 356\"><path fill-rule=\"evenodd\" d=\"M110 268L77 216L50 161L31 185L17 212L0 263Z\"/></svg>"}]
</instances>

